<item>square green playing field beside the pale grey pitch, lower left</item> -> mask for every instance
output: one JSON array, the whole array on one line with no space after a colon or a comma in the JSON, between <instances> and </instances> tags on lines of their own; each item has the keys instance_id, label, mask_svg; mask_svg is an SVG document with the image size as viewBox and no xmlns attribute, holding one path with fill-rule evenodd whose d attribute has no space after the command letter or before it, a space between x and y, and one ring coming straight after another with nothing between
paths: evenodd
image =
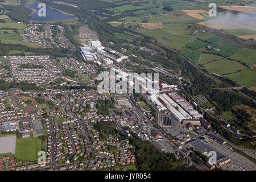
<instances>
[{"instance_id":1,"label":"square green playing field beside the pale grey pitch, lower left","mask_svg":"<svg viewBox=\"0 0 256 182\"><path fill-rule=\"evenodd\" d=\"M38 160L41 148L42 141L38 137L17 138L15 156L23 160Z\"/></svg>"}]
</instances>

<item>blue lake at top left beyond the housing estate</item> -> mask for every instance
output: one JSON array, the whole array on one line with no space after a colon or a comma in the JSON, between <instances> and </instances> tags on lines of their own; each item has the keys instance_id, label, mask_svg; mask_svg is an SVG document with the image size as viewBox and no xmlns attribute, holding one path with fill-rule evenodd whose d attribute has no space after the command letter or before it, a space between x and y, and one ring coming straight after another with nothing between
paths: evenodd
<instances>
[{"instance_id":1,"label":"blue lake at top left beyond the housing estate","mask_svg":"<svg viewBox=\"0 0 256 182\"><path fill-rule=\"evenodd\" d=\"M59 10L51 9L49 7L46 7L46 16L40 17L38 16L38 3L34 3L32 5L27 6L30 9L34 9L36 12L33 13L29 18L35 22L49 22L49 21L57 21L57 20L70 20L70 19L76 19L76 16L67 15L62 13Z\"/></svg>"}]
</instances>

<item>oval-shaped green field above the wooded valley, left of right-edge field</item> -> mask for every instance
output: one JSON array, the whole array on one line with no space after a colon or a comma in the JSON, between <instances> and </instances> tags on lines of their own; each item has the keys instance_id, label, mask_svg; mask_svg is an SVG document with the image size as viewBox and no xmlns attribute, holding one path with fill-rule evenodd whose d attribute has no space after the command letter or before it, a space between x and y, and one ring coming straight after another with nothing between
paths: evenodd
<instances>
[{"instance_id":1,"label":"oval-shaped green field above the wooded valley, left of right-edge field","mask_svg":"<svg viewBox=\"0 0 256 182\"><path fill-rule=\"evenodd\" d=\"M246 69L244 65L237 63L236 61L230 61L228 59L222 59L213 61L212 63L204 64L204 68L209 72L217 73L218 75L234 73L239 70Z\"/></svg>"}]
</instances>

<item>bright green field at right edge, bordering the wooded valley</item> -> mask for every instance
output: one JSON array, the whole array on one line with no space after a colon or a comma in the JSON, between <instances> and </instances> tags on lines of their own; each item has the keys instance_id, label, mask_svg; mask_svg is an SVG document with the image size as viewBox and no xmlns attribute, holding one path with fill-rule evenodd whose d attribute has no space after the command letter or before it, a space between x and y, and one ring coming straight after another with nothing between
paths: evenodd
<instances>
[{"instance_id":1,"label":"bright green field at right edge, bordering the wooded valley","mask_svg":"<svg viewBox=\"0 0 256 182\"><path fill-rule=\"evenodd\" d=\"M234 81L242 82L245 86L256 86L256 72L248 69L246 71L233 73L226 77Z\"/></svg>"}]
</instances>

